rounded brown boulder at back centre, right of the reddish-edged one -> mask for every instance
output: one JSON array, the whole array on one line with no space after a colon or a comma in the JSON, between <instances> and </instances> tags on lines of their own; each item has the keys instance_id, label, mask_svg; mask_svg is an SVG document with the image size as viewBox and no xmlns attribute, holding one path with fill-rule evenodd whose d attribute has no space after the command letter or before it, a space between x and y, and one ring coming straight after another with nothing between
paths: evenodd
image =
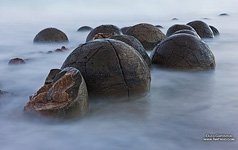
<instances>
[{"instance_id":1,"label":"rounded brown boulder at back centre, right of the reddish-edged one","mask_svg":"<svg viewBox=\"0 0 238 150\"><path fill-rule=\"evenodd\" d=\"M126 35L131 35L137 38L146 50L152 50L158 43L160 43L165 35L159 28L141 23L130 27Z\"/></svg>"}]
</instances>

